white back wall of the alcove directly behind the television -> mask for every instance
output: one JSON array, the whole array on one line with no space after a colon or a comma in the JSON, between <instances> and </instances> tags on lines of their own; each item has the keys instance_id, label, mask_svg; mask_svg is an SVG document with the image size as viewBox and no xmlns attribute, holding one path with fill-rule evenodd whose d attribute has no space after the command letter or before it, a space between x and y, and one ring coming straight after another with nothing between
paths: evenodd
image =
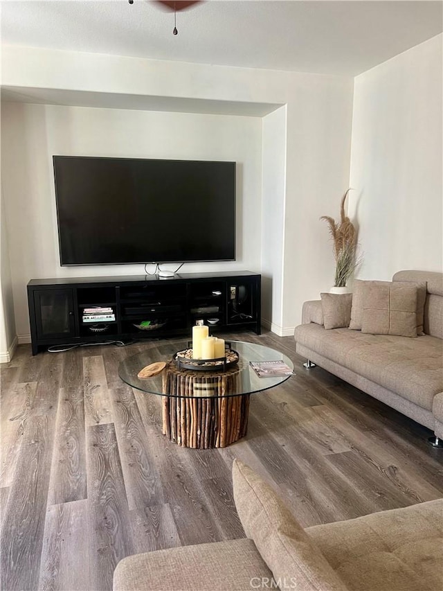
<instances>
[{"instance_id":1,"label":"white back wall of the alcove directly behind the television","mask_svg":"<svg viewBox=\"0 0 443 591\"><path fill-rule=\"evenodd\" d=\"M53 155L236 161L237 260L188 263L184 270L260 272L261 118L21 103L4 104L2 116L8 150L1 164L8 227L15 229L10 261L22 341L29 334L29 279L144 272L143 265L60 267Z\"/></svg>"}]
</instances>

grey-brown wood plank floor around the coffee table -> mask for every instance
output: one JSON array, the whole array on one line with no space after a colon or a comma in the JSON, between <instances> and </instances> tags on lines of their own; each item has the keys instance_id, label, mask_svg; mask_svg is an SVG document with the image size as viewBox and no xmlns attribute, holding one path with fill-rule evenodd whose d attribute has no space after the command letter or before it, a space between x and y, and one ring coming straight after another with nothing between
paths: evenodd
<instances>
[{"instance_id":1,"label":"grey-brown wood plank floor around the coffee table","mask_svg":"<svg viewBox=\"0 0 443 591\"><path fill-rule=\"evenodd\" d=\"M234 457L305 527L443 496L426 428L303 369L292 337L226 336L283 351L296 376L251 397L248 435L224 449L167 441L161 398L118 378L120 360L159 342L35 357L21 345L1 366L3 590L110 590L128 554L244 536Z\"/></svg>"}]
</instances>

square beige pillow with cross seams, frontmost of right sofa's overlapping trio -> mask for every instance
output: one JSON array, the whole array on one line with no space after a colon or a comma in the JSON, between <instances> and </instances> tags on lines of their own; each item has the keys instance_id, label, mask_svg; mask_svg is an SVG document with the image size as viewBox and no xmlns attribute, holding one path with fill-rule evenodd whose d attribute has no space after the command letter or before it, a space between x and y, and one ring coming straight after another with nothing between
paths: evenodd
<instances>
[{"instance_id":1,"label":"square beige pillow with cross seams, frontmost of right sofa's overlapping trio","mask_svg":"<svg viewBox=\"0 0 443 591\"><path fill-rule=\"evenodd\" d=\"M404 283L368 285L361 332L417 337L417 288Z\"/></svg>"}]
</instances>

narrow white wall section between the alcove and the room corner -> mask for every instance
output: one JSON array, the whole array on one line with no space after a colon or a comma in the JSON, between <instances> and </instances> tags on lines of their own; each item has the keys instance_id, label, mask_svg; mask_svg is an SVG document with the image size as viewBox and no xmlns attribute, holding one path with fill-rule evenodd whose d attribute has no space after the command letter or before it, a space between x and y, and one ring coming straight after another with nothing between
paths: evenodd
<instances>
[{"instance_id":1,"label":"narrow white wall section between the alcove and the room corner","mask_svg":"<svg viewBox=\"0 0 443 591\"><path fill-rule=\"evenodd\" d=\"M293 335L303 301L334 283L332 245L321 215L336 215L349 183L352 87L300 92L288 112L284 211L283 328Z\"/></svg>"}]
</instances>

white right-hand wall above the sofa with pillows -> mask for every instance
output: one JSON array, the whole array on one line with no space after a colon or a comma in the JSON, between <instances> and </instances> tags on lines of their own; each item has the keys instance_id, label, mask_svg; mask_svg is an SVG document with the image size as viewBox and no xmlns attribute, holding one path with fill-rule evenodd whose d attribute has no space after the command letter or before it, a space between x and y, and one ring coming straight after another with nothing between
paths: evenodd
<instances>
[{"instance_id":1,"label":"white right-hand wall above the sofa with pillows","mask_svg":"<svg viewBox=\"0 0 443 591\"><path fill-rule=\"evenodd\" d=\"M350 213L361 279L442 270L442 38L355 79Z\"/></svg>"}]
</instances>

